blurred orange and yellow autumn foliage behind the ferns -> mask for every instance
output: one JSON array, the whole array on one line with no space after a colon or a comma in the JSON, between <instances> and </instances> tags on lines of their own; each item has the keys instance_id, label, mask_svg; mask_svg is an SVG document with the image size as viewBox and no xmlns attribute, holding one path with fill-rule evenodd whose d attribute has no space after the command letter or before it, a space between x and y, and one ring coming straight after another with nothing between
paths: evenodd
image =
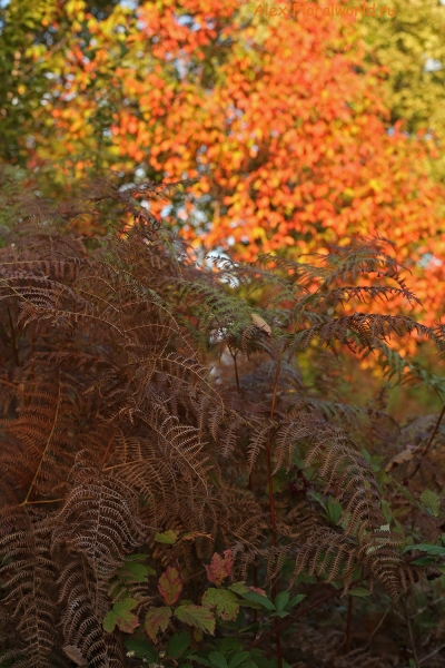
<instances>
[{"instance_id":1,"label":"blurred orange and yellow autumn foliage behind the ferns","mask_svg":"<svg viewBox=\"0 0 445 668\"><path fill-rule=\"evenodd\" d=\"M356 21L266 18L256 7L70 0L23 18L13 0L11 52L14 26L28 28L13 51L6 157L37 167L50 194L69 175L108 169L127 180L198 178L164 215L191 244L243 259L386 236L433 324L445 285L435 144L390 127L387 71L369 63ZM28 117L31 70L42 102Z\"/></svg>"}]
</instances>

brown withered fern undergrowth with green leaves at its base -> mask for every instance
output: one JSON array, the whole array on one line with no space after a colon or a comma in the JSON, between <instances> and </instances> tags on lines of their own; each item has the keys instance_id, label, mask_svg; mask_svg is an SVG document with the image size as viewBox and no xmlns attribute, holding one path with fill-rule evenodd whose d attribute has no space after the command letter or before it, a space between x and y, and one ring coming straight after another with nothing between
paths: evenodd
<instances>
[{"instance_id":1,"label":"brown withered fern undergrowth with green leaves at its base","mask_svg":"<svg viewBox=\"0 0 445 668\"><path fill-rule=\"evenodd\" d=\"M3 225L0 665L443 665L442 413L339 391L347 350L442 400L392 347L442 325L369 311L417 303L385 239L198 262L140 206L170 188ZM102 202L132 225L93 243Z\"/></svg>"}]
</instances>

